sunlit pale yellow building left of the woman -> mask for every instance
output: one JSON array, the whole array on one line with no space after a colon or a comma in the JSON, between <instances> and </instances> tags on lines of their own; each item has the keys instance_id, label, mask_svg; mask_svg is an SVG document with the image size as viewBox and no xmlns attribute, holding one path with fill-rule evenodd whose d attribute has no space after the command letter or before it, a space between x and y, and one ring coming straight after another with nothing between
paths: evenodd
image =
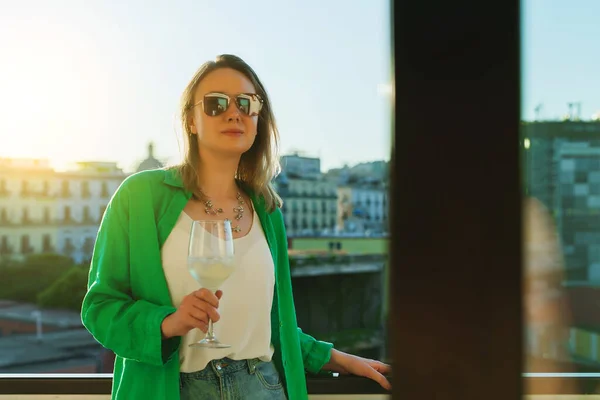
<instances>
[{"instance_id":1,"label":"sunlit pale yellow building left of the woman","mask_svg":"<svg viewBox=\"0 0 600 400\"><path fill-rule=\"evenodd\" d=\"M88 260L106 205L125 177L109 162L58 172L47 160L0 159L0 257L59 253Z\"/></svg>"}]
</instances>

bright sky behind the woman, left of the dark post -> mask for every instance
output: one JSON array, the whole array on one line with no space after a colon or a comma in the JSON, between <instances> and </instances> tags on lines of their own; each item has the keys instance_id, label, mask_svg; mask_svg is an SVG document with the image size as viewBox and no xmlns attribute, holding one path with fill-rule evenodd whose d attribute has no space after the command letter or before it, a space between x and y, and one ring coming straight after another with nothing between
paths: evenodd
<instances>
[{"instance_id":1,"label":"bright sky behind the woman, left of the dark post","mask_svg":"<svg viewBox=\"0 0 600 400\"><path fill-rule=\"evenodd\" d=\"M115 161L183 151L179 97L232 53L271 97L283 154L389 159L385 0L0 0L0 157Z\"/></svg>"}]
</instances>

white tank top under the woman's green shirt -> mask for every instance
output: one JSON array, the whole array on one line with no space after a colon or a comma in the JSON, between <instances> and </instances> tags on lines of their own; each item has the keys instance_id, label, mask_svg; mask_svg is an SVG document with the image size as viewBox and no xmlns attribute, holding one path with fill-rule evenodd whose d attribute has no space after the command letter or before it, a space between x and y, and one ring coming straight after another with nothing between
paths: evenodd
<instances>
[{"instance_id":1,"label":"white tank top under the woman's green shirt","mask_svg":"<svg viewBox=\"0 0 600 400\"><path fill-rule=\"evenodd\" d=\"M182 212L161 250L162 264L174 307L200 285L187 269L187 249L192 219ZM260 358L271 361L271 307L275 266L256 212L250 232L234 239L235 270L221 286L221 319L214 333L227 349L191 348L204 333L192 329L182 337L179 349L181 372L200 371L209 361L229 357L233 360Z\"/></svg>"}]
</instances>

